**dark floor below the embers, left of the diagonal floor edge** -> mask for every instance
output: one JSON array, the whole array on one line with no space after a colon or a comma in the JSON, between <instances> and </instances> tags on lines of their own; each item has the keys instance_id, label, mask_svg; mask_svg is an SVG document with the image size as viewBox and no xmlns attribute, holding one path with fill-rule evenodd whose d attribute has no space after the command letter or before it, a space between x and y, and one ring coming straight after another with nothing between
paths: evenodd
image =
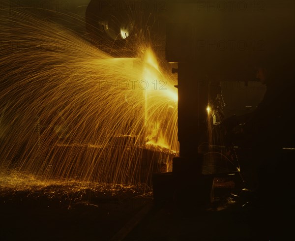
<instances>
[{"instance_id":1,"label":"dark floor below the embers, left of the diagonal floor edge","mask_svg":"<svg viewBox=\"0 0 295 241\"><path fill-rule=\"evenodd\" d=\"M0 183L0 241L108 241L152 202L150 193L129 187L54 188L16 191Z\"/></svg>"}]
</instances>

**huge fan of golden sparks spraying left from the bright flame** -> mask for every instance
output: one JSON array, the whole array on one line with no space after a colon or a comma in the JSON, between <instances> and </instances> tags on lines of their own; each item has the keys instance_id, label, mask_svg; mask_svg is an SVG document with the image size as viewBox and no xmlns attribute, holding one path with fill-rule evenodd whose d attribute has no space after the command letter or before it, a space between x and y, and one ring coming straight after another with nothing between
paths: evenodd
<instances>
[{"instance_id":1,"label":"huge fan of golden sparks spraying left from the bright flame","mask_svg":"<svg viewBox=\"0 0 295 241\"><path fill-rule=\"evenodd\" d=\"M152 49L113 58L17 9L1 10L0 29L2 173L148 183L177 153L176 81Z\"/></svg>"}]
</instances>

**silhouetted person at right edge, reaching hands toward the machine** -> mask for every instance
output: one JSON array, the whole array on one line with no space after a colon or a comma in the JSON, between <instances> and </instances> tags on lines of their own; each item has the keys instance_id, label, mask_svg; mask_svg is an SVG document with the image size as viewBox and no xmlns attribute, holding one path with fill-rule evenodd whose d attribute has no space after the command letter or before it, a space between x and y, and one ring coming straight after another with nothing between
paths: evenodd
<instances>
[{"instance_id":1,"label":"silhouetted person at right edge, reaching hands toward the machine","mask_svg":"<svg viewBox=\"0 0 295 241\"><path fill-rule=\"evenodd\" d=\"M242 128L233 128L228 137L236 136L237 145L252 150L249 161L252 162L252 181L256 184L250 188L255 189L262 200L273 199L281 186L287 185L280 180L288 166L282 166L280 160L282 148L295 147L292 63L275 59L273 62L260 63L256 77L266 85L262 102L254 112L224 121L225 125L228 122L244 123L240 125Z\"/></svg>"}]
</instances>

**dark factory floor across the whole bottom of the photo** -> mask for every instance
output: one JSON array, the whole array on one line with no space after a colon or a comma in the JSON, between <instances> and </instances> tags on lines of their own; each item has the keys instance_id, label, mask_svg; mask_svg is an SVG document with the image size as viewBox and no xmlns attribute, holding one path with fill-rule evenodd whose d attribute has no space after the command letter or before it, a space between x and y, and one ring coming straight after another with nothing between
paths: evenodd
<instances>
[{"instance_id":1,"label":"dark factory floor across the whole bottom of the photo","mask_svg":"<svg viewBox=\"0 0 295 241\"><path fill-rule=\"evenodd\" d=\"M1 193L0 240L289 240L294 220L292 202L256 202L255 196L238 193L231 184L219 180L213 203L194 207L176 207L169 201L155 205L152 195L132 192L107 198L100 193L91 202L79 202L76 196L72 204L60 205L58 199L44 195Z\"/></svg>"}]
</instances>

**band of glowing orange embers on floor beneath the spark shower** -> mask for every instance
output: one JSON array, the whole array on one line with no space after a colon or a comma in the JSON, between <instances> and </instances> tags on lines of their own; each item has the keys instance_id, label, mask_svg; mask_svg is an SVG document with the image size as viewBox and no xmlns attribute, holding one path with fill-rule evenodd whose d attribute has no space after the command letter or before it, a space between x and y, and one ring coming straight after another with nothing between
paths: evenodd
<instances>
[{"instance_id":1,"label":"band of glowing orange embers on floor beneath the spark shower","mask_svg":"<svg viewBox=\"0 0 295 241\"><path fill-rule=\"evenodd\" d=\"M10 171L0 176L1 205L25 207L77 208L95 206L101 202L118 202L137 196L151 197L145 184L127 185L82 182L72 179L39 179L31 174Z\"/></svg>"}]
</instances>

